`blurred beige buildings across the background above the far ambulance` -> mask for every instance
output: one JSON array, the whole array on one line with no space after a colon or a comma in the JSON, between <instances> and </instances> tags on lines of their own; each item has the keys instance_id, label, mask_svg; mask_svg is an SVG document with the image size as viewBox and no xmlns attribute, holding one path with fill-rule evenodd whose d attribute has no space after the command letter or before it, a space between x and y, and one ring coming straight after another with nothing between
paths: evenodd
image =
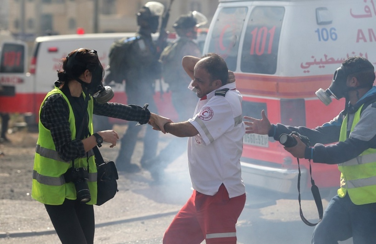
<instances>
[{"instance_id":1,"label":"blurred beige buildings across the background above the far ambulance","mask_svg":"<svg viewBox=\"0 0 376 244\"><path fill-rule=\"evenodd\" d=\"M1 0L0 24L6 24L15 38L33 41L41 35L135 32L136 12L147 0ZM170 0L160 0L167 6ZM174 0L167 30L188 11L202 12L209 20L218 0ZM2 15L3 13L3 15ZM4 17L6 16L6 17ZM2 21L5 18L5 21ZM8 21L6 19L8 18Z\"/></svg>"}]
</instances>

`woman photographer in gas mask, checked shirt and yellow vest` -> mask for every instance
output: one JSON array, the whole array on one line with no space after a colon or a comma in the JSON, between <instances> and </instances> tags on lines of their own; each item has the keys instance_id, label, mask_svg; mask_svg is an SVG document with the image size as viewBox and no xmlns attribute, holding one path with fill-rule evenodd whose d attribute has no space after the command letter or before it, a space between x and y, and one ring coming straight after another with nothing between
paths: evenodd
<instances>
[{"instance_id":1,"label":"woman photographer in gas mask, checked shirt and yellow vest","mask_svg":"<svg viewBox=\"0 0 376 244\"><path fill-rule=\"evenodd\" d=\"M94 133L92 114L140 124L161 123L162 117L147 106L108 102L113 93L103 87L95 50L72 51L62 59L62 69L39 111L32 197L45 205L62 243L93 243L97 169L92 148L102 142L112 148L119 136L114 130Z\"/></svg>"}]
</instances>

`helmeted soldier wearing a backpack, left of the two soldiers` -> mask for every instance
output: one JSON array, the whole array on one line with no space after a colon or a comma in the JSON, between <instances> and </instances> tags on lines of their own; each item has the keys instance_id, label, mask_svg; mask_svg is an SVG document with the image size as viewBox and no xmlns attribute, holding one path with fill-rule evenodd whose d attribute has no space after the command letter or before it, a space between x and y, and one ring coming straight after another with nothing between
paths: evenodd
<instances>
[{"instance_id":1,"label":"helmeted soldier wearing a backpack, left of the two soldiers","mask_svg":"<svg viewBox=\"0 0 376 244\"><path fill-rule=\"evenodd\" d=\"M124 40L123 70L126 81L126 95L128 104L149 104L149 109L156 111L153 100L155 80L161 77L159 55L152 33L156 33L159 17L163 14L164 6L158 2L147 2L137 13L139 30L133 38ZM121 139L121 147L116 159L119 171L137 172L139 166L131 163L137 136L141 127L129 122L128 128ZM144 136L144 153L141 162L155 156L158 145L158 132L151 127L146 129Z\"/></svg>"}]
</instances>

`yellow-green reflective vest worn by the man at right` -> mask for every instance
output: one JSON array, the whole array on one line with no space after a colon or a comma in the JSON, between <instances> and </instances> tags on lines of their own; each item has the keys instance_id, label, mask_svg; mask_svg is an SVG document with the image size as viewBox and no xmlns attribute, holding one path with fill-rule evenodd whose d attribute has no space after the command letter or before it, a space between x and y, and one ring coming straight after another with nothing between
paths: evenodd
<instances>
[{"instance_id":1,"label":"yellow-green reflective vest worn by the man at right","mask_svg":"<svg viewBox=\"0 0 376 244\"><path fill-rule=\"evenodd\" d=\"M356 111L350 131L358 124L362 107ZM341 126L340 142L347 139L347 122L348 115ZM341 171L341 188L338 189L340 197L344 197L347 192L354 204L376 202L376 149L368 148L358 157L340 163L338 169Z\"/></svg>"}]
</instances>

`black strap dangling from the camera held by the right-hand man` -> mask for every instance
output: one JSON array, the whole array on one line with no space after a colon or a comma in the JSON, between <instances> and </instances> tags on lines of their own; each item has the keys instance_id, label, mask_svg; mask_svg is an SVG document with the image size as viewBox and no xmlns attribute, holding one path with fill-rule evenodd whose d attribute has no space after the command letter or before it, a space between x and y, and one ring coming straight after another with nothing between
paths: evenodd
<instances>
[{"instance_id":1,"label":"black strap dangling from the camera held by the right-hand man","mask_svg":"<svg viewBox=\"0 0 376 244\"><path fill-rule=\"evenodd\" d=\"M311 177L311 184L312 184L312 186L311 186L311 192L312 192L313 198L314 198L315 203L316 203L319 220L318 220L317 223L311 223L308 220L306 220L306 218L303 216L302 204L300 203L300 176L301 176L301 173L300 173L299 158L297 158L297 160L298 160L298 170L299 170L299 174L298 174L298 192L299 192L299 197L298 197L298 200L299 200L300 218L303 220L303 222L306 225L308 225L308 226L315 226L316 224L320 223L320 221L323 219L323 203L321 202L321 196L320 196L320 192L318 191L318 187L315 185L315 181L312 179L311 160L308 160L308 162L309 162L309 175Z\"/></svg>"}]
</instances>

